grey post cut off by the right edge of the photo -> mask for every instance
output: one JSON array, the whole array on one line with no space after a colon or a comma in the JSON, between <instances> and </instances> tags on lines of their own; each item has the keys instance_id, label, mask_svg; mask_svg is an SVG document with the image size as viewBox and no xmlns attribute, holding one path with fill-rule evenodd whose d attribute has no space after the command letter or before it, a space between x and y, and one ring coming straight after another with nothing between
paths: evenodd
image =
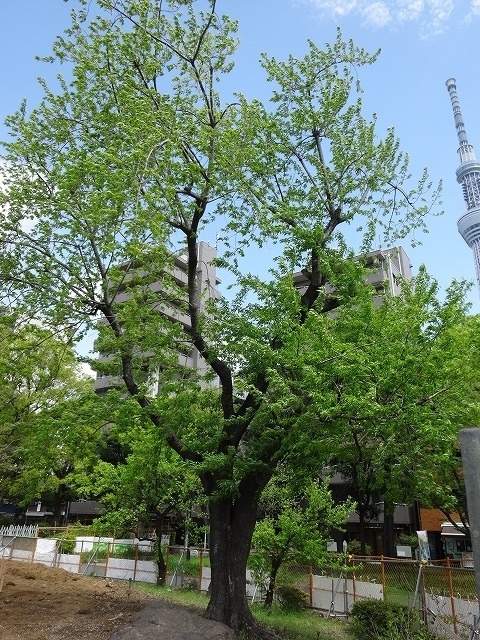
<instances>
[{"instance_id":1,"label":"grey post cut off by the right edge of the photo","mask_svg":"<svg viewBox=\"0 0 480 640\"><path fill-rule=\"evenodd\" d=\"M477 599L480 603L480 428L461 429L459 436Z\"/></svg>"}]
</instances>

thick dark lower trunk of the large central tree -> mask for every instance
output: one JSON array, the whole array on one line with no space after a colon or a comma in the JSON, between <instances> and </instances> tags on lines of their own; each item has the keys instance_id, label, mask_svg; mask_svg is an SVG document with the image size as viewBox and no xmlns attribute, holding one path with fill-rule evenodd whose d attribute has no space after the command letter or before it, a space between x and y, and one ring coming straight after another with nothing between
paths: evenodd
<instances>
[{"instance_id":1,"label":"thick dark lower trunk of the large central tree","mask_svg":"<svg viewBox=\"0 0 480 640\"><path fill-rule=\"evenodd\" d=\"M235 500L212 502L210 513L210 564L212 581L206 617L222 622L242 637L270 640L277 636L258 623L246 593L246 567L256 521L257 501L243 492Z\"/></svg>"}]
</instances>

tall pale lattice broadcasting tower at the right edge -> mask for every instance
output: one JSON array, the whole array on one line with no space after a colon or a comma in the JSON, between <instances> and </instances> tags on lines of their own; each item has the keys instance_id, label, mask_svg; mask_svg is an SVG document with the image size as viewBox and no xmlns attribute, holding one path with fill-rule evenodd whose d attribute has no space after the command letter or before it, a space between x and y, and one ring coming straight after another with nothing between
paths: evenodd
<instances>
[{"instance_id":1,"label":"tall pale lattice broadcasting tower at the right edge","mask_svg":"<svg viewBox=\"0 0 480 640\"><path fill-rule=\"evenodd\" d=\"M480 288L480 162L475 158L473 146L467 140L455 78L449 78L445 84L452 101L455 127L460 144L458 148L460 165L456 171L457 182L462 185L463 199L467 205L467 212L460 216L457 226L460 235L473 251L477 284Z\"/></svg>"}]
</instances>

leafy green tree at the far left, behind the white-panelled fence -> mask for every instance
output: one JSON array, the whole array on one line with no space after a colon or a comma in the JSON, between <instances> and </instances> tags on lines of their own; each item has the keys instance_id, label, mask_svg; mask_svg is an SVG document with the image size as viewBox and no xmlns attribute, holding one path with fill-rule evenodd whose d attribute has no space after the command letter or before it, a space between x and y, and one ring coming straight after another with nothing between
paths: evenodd
<instances>
[{"instance_id":1,"label":"leafy green tree at the far left, behind the white-panelled fence","mask_svg":"<svg viewBox=\"0 0 480 640\"><path fill-rule=\"evenodd\" d=\"M101 417L92 380L69 337L5 311L0 315L0 491L26 505L44 500L57 523L75 497L75 469L96 459Z\"/></svg>"}]
</instances>

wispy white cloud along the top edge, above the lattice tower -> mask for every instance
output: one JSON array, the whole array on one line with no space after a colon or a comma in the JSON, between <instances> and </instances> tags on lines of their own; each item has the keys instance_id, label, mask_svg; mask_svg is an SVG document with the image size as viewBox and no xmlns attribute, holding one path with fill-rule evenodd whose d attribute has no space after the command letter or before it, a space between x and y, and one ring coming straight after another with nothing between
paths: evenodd
<instances>
[{"instance_id":1,"label":"wispy white cloud along the top edge, above the lattice tower","mask_svg":"<svg viewBox=\"0 0 480 640\"><path fill-rule=\"evenodd\" d=\"M455 0L310 0L323 15L334 18L358 16L365 26L396 28L417 23L423 35L435 35L448 28ZM462 3L463 4L463 3ZM464 17L480 15L480 0L465 3Z\"/></svg>"}]
</instances>

